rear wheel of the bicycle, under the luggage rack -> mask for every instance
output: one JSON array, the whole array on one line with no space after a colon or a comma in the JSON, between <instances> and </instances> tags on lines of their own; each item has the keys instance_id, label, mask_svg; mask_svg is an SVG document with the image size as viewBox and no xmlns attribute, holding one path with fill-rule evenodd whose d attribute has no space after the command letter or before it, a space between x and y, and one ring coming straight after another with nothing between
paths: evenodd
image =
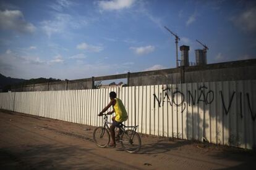
<instances>
[{"instance_id":1,"label":"rear wheel of the bicycle, under the luggage rack","mask_svg":"<svg viewBox=\"0 0 256 170\"><path fill-rule=\"evenodd\" d=\"M129 153L138 152L142 145L139 134L131 129L122 133L120 143L122 148Z\"/></svg>"}]
</instances>

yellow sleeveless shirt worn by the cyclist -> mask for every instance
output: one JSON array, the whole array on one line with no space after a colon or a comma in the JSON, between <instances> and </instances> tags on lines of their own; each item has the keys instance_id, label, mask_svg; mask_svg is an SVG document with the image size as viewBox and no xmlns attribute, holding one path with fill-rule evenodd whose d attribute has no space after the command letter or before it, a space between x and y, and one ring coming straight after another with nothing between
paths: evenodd
<instances>
[{"instance_id":1,"label":"yellow sleeveless shirt worn by the cyclist","mask_svg":"<svg viewBox=\"0 0 256 170\"><path fill-rule=\"evenodd\" d=\"M122 100L115 98L116 104L114 105L114 113L116 113L116 118L115 120L118 122L121 121L126 121L128 116L127 116L127 111L126 108L124 107L124 104L122 103Z\"/></svg>"}]
</instances>

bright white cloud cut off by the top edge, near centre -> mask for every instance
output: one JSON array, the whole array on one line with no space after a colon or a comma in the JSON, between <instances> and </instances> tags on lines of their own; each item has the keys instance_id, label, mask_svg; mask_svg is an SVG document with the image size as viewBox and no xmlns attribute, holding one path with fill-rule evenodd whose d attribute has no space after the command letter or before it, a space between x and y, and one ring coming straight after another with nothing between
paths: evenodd
<instances>
[{"instance_id":1,"label":"bright white cloud cut off by the top edge, near centre","mask_svg":"<svg viewBox=\"0 0 256 170\"><path fill-rule=\"evenodd\" d=\"M102 10L121 10L131 7L134 2L135 0L99 1L98 6Z\"/></svg>"}]
</instances>

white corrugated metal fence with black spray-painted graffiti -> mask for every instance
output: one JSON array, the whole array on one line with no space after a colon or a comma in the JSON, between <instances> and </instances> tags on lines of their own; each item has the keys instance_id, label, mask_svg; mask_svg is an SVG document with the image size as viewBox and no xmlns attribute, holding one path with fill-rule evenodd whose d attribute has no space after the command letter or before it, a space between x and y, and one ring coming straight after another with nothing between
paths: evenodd
<instances>
[{"instance_id":1,"label":"white corrugated metal fence with black spray-painted graffiti","mask_svg":"<svg viewBox=\"0 0 256 170\"><path fill-rule=\"evenodd\" d=\"M139 125L138 132L253 148L256 145L255 87L256 80L251 80L6 92L0 93L0 108L102 126L103 119L98 113L108 105L109 92L115 91L129 115L124 124Z\"/></svg>"}]
</instances>

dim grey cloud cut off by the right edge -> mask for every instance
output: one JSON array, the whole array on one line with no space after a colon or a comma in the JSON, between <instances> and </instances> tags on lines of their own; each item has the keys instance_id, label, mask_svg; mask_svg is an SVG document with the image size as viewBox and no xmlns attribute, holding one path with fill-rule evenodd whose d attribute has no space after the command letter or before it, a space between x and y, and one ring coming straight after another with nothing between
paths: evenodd
<instances>
[{"instance_id":1,"label":"dim grey cloud cut off by the right edge","mask_svg":"<svg viewBox=\"0 0 256 170\"><path fill-rule=\"evenodd\" d=\"M245 10L231 20L243 31L256 31L256 7Z\"/></svg>"}]
</instances>

